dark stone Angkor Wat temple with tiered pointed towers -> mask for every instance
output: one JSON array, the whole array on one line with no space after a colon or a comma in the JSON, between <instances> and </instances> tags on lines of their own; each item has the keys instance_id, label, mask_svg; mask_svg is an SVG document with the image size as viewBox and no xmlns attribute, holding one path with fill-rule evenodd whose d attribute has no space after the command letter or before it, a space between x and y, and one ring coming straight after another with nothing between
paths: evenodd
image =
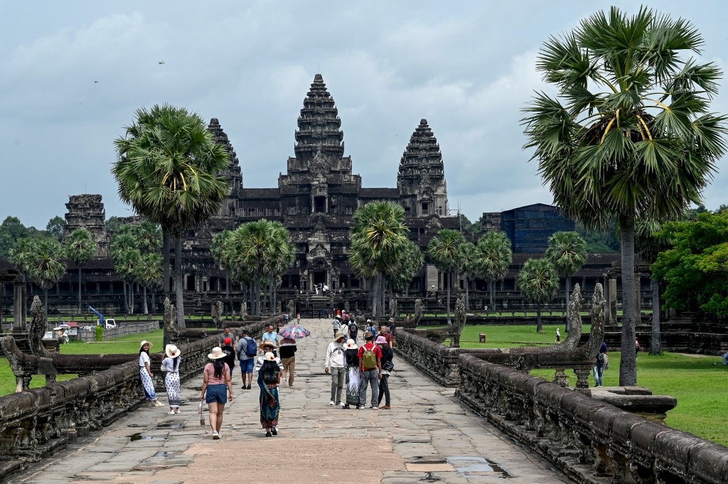
<instances>
[{"instance_id":1,"label":"dark stone Angkor Wat temple with tiered pointed towers","mask_svg":"<svg viewBox=\"0 0 728 484\"><path fill-rule=\"evenodd\" d=\"M229 297L226 297L226 273L213 261L210 243L215 234L234 229L241 223L267 218L280 221L290 231L297 248L296 261L282 279L278 301L285 304L293 299L297 309L304 313L331 305L341 307L343 301L349 301L352 307L355 304L363 307L365 282L352 271L347 260L349 227L352 214L358 207L377 200L401 205L410 228L410 238L423 252L440 229L459 229L459 217L451 214L448 207L440 146L427 119L419 122L408 145L403 147L397 187L363 188L360 175L352 172L351 156L344 156L341 119L320 74L314 77L298 116L294 156L288 158L286 171L279 176L275 188L245 188L240 161L218 119L210 121L209 129L230 154L226 175L231 180L231 191L217 216L186 234L182 256L188 312L209 312L210 303L218 299L227 301L228 308L240 308L244 297L242 287L232 283ZM531 209L531 213L543 213L544 207L555 209L537 205L539 207L531 206L536 207ZM66 207L66 234L83 226L99 242L98 258L84 267L84 299L108 312L121 312L124 307L123 286L108 258L108 234L101 196L76 195L71 197ZM500 229L498 214L484 215L483 220L489 221L488 229ZM539 239L542 236L547 238L555 230L539 232ZM515 252L509 274L499 282L498 293L502 298L520 300L521 296L515 289L515 277L532 254L518 253L517 249ZM604 274L616 260L616 254L590 255L587 265L575 274L574 282L580 282L582 291L588 293L596 282L605 282ZM427 260L427 255L425 261L422 271L411 283L408 296L432 297L444 288L445 278L440 277L435 266ZM0 269L3 269L2 266L7 266L7 261L0 261ZM50 304L51 312L54 306L66 312L63 309L66 301L69 310L76 307L74 273L77 274L77 269L73 263L68 269L69 274L58 284L55 294L50 294L52 301L55 299L55 304ZM462 287L464 283L461 280L459 285ZM333 298L320 301L320 298L312 297L312 288L319 284L328 285ZM470 281L470 290L474 294L485 289L484 281Z\"/></svg>"}]
</instances>

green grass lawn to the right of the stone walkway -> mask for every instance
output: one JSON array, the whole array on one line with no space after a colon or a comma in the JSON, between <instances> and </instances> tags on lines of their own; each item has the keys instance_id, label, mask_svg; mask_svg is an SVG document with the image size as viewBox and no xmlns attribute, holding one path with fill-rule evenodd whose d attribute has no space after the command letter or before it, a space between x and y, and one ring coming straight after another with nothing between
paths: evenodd
<instances>
[{"instance_id":1,"label":"green grass lawn to the right of the stone walkway","mask_svg":"<svg viewBox=\"0 0 728 484\"><path fill-rule=\"evenodd\" d=\"M566 338L561 328L561 338ZM584 331L589 328L585 327ZM478 343L479 333L486 333L486 344ZM534 326L466 326L460 344L464 348L507 348L513 346L540 346L553 344L556 326L545 325L544 333L536 333ZM728 394L728 366L721 357L686 356L665 353L651 356L640 352L637 358L637 383L646 386L654 394L672 395L678 406L668 412L665 423L680 429L728 445L728 412L725 399ZM534 370L534 375L553 380L553 370ZM571 374L569 374L571 373ZM574 386L577 377L567 372L569 384ZM604 371L604 386L617 386L620 380L620 352L609 352L609 370ZM590 384L593 384L590 378Z\"/></svg>"}]
</instances>

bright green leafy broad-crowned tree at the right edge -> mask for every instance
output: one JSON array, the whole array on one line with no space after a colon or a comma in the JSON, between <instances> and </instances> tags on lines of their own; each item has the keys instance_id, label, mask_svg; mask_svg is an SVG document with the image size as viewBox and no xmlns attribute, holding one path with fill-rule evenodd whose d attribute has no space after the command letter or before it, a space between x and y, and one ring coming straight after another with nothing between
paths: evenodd
<instances>
[{"instance_id":1,"label":"bright green leafy broad-crowned tree at the right edge","mask_svg":"<svg viewBox=\"0 0 728 484\"><path fill-rule=\"evenodd\" d=\"M667 284L665 304L723 322L728 317L728 211L665 223L657 236L672 245L651 267L654 277Z\"/></svg>"}]
</instances>

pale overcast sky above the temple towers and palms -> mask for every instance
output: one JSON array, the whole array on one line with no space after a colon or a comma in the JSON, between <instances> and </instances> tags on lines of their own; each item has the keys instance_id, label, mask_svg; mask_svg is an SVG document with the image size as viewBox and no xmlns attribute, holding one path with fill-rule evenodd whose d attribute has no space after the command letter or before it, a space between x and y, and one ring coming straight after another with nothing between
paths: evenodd
<instances>
[{"instance_id":1,"label":"pale overcast sky above the temple towers and palms","mask_svg":"<svg viewBox=\"0 0 728 484\"><path fill-rule=\"evenodd\" d=\"M245 188L277 186L314 74L336 100L346 155L365 187L395 187L426 118L453 209L472 221L552 197L528 162L521 108L544 86L535 57L550 35L603 1L0 0L0 217L44 229L68 196L102 194L130 215L111 175L114 138L137 108L172 103L216 117ZM653 1L691 20L703 60L726 69L723 1ZM725 85L726 82L723 82ZM728 112L728 92L713 111ZM705 205L726 203L725 160Z\"/></svg>"}]
</instances>

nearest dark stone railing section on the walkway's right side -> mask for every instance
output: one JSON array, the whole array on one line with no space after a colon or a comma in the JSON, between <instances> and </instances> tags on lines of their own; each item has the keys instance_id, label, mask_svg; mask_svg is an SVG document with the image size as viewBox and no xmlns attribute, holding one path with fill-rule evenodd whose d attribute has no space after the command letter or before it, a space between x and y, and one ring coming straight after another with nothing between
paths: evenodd
<instances>
[{"instance_id":1,"label":"nearest dark stone railing section on the walkway's right side","mask_svg":"<svg viewBox=\"0 0 728 484\"><path fill-rule=\"evenodd\" d=\"M463 354L456 395L580 483L726 483L728 448Z\"/></svg>"}]
</instances>

